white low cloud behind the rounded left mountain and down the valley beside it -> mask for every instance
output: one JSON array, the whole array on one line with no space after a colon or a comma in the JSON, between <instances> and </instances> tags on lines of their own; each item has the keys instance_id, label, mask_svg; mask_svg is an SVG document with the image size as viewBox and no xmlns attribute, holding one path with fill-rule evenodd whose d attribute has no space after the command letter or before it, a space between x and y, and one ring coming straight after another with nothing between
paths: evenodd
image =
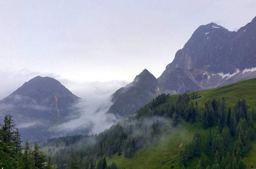
<instances>
[{"instance_id":1,"label":"white low cloud behind the rounded left mountain and down the valley beside it","mask_svg":"<svg viewBox=\"0 0 256 169\"><path fill-rule=\"evenodd\" d=\"M74 105L74 113L71 113L66 118L66 122L52 128L57 132L67 134L81 129L90 129L89 134L99 133L111 126L116 117L113 114L106 114L111 102L111 95L120 87L125 86L128 82L112 80L109 82L76 82L69 79L61 78L59 75L31 72L29 70L20 71L0 71L0 78L4 79L0 84L0 99L10 95L13 91L22 86L25 82L35 76L50 76L59 80L73 94L81 98L80 102ZM22 99L20 96L15 96L15 100ZM2 105L1 107L10 108L12 105ZM23 105L35 110L47 110L48 107L37 104ZM35 122L24 124L22 127L30 127L37 125Z\"/></svg>"}]
</instances>

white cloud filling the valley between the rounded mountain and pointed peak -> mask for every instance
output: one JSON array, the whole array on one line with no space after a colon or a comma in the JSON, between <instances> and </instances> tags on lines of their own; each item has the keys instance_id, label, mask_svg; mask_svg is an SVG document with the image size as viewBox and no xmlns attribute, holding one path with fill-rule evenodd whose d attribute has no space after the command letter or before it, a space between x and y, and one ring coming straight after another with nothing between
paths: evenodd
<instances>
[{"instance_id":1,"label":"white cloud filling the valley between the rounded mountain and pointed peak","mask_svg":"<svg viewBox=\"0 0 256 169\"><path fill-rule=\"evenodd\" d=\"M78 96L82 98L80 102L74 105L74 108L79 112L79 117L62 123L54 129L63 133L90 129L88 134L95 134L110 127L116 121L115 115L106 113L113 104L111 95L126 84L127 82L124 81L72 84L74 85L70 86L72 91L78 93Z\"/></svg>"}]
</instances>

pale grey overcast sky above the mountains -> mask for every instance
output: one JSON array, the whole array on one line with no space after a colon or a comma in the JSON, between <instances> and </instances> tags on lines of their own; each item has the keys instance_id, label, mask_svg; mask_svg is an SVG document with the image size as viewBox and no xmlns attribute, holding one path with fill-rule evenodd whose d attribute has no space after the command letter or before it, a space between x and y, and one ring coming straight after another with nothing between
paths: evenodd
<instances>
[{"instance_id":1,"label":"pale grey overcast sky above the mountains","mask_svg":"<svg viewBox=\"0 0 256 169\"><path fill-rule=\"evenodd\" d=\"M132 81L144 68L158 77L199 25L233 31L255 16L256 0L1 0L1 80Z\"/></svg>"}]
</instances>

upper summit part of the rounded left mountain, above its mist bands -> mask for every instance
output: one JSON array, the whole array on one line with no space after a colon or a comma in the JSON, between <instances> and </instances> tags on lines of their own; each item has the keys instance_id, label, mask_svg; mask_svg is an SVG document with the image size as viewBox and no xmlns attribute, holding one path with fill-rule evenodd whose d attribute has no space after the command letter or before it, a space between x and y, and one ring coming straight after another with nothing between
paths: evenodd
<instances>
[{"instance_id":1,"label":"upper summit part of the rounded left mountain, above its mist bands","mask_svg":"<svg viewBox=\"0 0 256 169\"><path fill-rule=\"evenodd\" d=\"M17 97L20 99L16 99ZM25 82L0 102L15 103L18 101L19 104L36 103L38 105L52 106L55 102L54 98L63 99L63 102L69 104L79 99L58 80L51 77L36 76Z\"/></svg>"}]
</instances>

